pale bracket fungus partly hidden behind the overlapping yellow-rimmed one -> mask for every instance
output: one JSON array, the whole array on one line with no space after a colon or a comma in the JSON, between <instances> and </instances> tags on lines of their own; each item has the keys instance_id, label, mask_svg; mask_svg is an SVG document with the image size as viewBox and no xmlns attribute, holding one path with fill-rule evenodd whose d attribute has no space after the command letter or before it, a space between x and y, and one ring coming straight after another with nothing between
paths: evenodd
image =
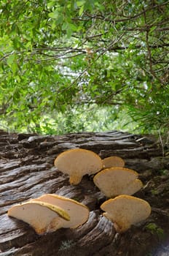
<instances>
[{"instance_id":1,"label":"pale bracket fungus partly hidden behind the overlapping yellow-rimmed one","mask_svg":"<svg viewBox=\"0 0 169 256\"><path fill-rule=\"evenodd\" d=\"M45 194L35 200L63 208L70 216L70 220L66 221L65 219L62 219L62 227L76 228L79 227L79 225L84 224L84 222L87 222L87 219L89 218L90 211L87 206L67 197L55 194Z\"/></svg>"}]
</instances>

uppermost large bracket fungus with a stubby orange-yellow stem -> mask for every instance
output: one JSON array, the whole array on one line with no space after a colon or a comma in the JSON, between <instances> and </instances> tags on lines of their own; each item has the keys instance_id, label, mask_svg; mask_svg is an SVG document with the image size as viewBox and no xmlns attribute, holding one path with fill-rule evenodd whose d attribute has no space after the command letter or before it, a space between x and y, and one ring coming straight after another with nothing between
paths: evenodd
<instances>
[{"instance_id":1,"label":"uppermost large bracket fungus with a stubby orange-yellow stem","mask_svg":"<svg viewBox=\"0 0 169 256\"><path fill-rule=\"evenodd\" d=\"M70 184L79 184L85 174L98 173L103 167L102 160L93 151L74 148L61 153L55 159L55 167L70 176Z\"/></svg>"}]
</instances>

